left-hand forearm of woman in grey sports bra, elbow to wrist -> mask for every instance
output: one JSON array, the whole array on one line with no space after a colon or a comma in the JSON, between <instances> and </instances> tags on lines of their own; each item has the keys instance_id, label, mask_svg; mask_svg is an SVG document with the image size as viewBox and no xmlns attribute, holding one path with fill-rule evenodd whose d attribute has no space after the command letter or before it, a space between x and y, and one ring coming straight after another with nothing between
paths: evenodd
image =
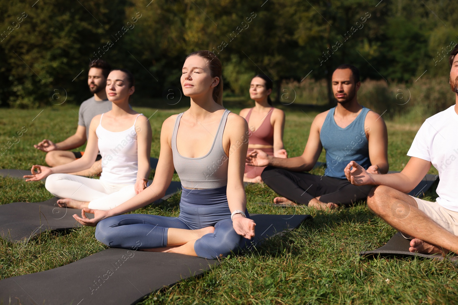
<instances>
[{"instance_id":1,"label":"left-hand forearm of woman in grey sports bra, elbow to wrist","mask_svg":"<svg viewBox=\"0 0 458 305\"><path fill-rule=\"evenodd\" d=\"M116 216L133 211L135 209L142 208L145 205L164 197L164 195L165 189L158 188L154 185L150 185L149 187L145 188L141 193L138 193L135 197L127 200L125 203L118 205L114 209L110 209L108 211L108 216Z\"/></svg>"}]
</instances>

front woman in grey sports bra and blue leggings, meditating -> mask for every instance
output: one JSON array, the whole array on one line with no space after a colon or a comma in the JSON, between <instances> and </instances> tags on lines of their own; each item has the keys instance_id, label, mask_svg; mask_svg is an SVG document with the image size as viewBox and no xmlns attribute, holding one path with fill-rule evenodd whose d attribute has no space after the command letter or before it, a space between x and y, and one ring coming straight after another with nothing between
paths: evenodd
<instances>
[{"instance_id":1,"label":"front woman in grey sports bra and blue leggings, meditating","mask_svg":"<svg viewBox=\"0 0 458 305\"><path fill-rule=\"evenodd\" d=\"M97 225L96 238L111 247L225 257L244 249L255 232L243 186L248 126L222 105L221 63L215 54L191 53L182 72L191 107L164 121L152 185L114 209L83 209L82 217L73 217ZM183 186L179 217L120 215L164 196L174 170Z\"/></svg>"}]
</instances>

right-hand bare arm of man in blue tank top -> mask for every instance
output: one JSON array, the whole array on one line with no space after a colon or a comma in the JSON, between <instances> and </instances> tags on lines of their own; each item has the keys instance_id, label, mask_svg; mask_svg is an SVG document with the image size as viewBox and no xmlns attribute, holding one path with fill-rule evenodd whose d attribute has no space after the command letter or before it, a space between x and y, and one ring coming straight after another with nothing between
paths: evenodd
<instances>
[{"instance_id":1,"label":"right-hand bare arm of man in blue tank top","mask_svg":"<svg viewBox=\"0 0 458 305\"><path fill-rule=\"evenodd\" d=\"M365 118L369 141L369 159L371 166L378 166L382 174L388 172L388 133L387 125L376 112L370 111Z\"/></svg>"}]
</instances>

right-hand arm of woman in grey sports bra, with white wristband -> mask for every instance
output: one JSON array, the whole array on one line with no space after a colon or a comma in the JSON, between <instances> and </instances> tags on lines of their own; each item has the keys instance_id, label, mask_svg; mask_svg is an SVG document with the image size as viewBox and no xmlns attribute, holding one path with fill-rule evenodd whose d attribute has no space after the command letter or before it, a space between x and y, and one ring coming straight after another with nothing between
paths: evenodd
<instances>
[{"instance_id":1,"label":"right-hand arm of woman in grey sports bra, with white wristband","mask_svg":"<svg viewBox=\"0 0 458 305\"><path fill-rule=\"evenodd\" d=\"M243 186L243 173L245 171L245 157L248 150L248 123L246 123L244 118L230 113L226 126L231 127L224 129L223 136L224 147L227 148L225 151L229 155L226 191L229 209L231 213L235 210L245 212L246 196L245 187ZM229 148L233 145L237 145L237 149L231 150L231 153L229 153ZM251 239L255 235L255 225L253 220L247 219L241 214L234 214L233 226L237 234Z\"/></svg>"}]
</instances>

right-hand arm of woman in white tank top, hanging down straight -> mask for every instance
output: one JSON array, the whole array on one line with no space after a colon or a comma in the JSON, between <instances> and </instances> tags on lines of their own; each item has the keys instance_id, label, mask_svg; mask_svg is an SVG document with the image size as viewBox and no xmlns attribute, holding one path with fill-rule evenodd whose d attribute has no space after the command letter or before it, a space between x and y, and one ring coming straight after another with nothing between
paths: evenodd
<instances>
[{"instance_id":1,"label":"right-hand arm of woman in white tank top, hanging down straight","mask_svg":"<svg viewBox=\"0 0 458 305\"><path fill-rule=\"evenodd\" d=\"M146 180L151 171L149 155L151 154L151 124L148 119L141 115L137 118L135 123L135 130L137 133L137 158L138 158L138 172L137 181L135 182L135 193L142 192L146 187ZM146 179L146 180L145 180Z\"/></svg>"}]
</instances>

